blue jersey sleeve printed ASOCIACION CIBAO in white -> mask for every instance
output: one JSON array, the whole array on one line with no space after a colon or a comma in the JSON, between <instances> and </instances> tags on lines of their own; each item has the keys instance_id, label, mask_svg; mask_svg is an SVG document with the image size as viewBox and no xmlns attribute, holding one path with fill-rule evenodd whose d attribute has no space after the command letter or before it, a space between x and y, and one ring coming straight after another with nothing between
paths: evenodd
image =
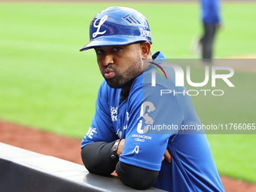
<instances>
[{"instance_id":1,"label":"blue jersey sleeve printed ASOCIACION CIBAO in white","mask_svg":"<svg viewBox=\"0 0 256 192\"><path fill-rule=\"evenodd\" d=\"M184 120L175 96L169 94L160 99L164 87L144 85L130 96L130 121L120 162L144 169L159 171L169 138ZM166 102L165 102L166 101Z\"/></svg>"}]
</instances>

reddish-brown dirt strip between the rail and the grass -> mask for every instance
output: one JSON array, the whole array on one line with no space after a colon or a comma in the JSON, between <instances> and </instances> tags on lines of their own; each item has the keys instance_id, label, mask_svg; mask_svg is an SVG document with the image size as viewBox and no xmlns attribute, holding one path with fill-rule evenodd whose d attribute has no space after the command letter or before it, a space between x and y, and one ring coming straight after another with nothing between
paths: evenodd
<instances>
[{"instance_id":1,"label":"reddish-brown dirt strip between the rail and the grass","mask_svg":"<svg viewBox=\"0 0 256 192\"><path fill-rule=\"evenodd\" d=\"M80 139L70 139L0 120L0 142L82 164ZM221 175L227 192L256 192L256 184Z\"/></svg>"}]
</instances>

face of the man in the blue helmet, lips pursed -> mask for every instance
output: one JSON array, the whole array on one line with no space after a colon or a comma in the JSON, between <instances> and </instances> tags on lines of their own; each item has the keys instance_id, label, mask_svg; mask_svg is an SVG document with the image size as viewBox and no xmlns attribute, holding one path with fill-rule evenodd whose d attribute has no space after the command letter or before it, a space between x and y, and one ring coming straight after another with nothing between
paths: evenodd
<instances>
[{"instance_id":1,"label":"face of the man in the blue helmet, lips pursed","mask_svg":"<svg viewBox=\"0 0 256 192\"><path fill-rule=\"evenodd\" d=\"M140 44L96 47L99 70L112 88L129 86L142 74Z\"/></svg>"}]
</instances>

